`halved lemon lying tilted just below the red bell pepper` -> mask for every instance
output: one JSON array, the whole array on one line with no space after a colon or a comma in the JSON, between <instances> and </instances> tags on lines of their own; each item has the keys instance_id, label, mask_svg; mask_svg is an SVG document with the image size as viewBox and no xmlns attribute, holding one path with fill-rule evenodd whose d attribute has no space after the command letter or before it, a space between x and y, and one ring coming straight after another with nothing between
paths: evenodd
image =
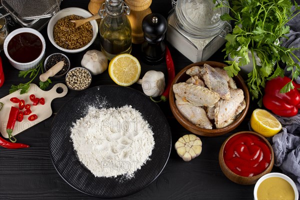
<instances>
[{"instance_id":1,"label":"halved lemon lying tilted just below the red bell pepper","mask_svg":"<svg viewBox=\"0 0 300 200\"><path fill-rule=\"evenodd\" d=\"M278 119L265 109L255 109L250 118L251 128L264 137L277 134L282 126Z\"/></svg>"}]
</instances>

